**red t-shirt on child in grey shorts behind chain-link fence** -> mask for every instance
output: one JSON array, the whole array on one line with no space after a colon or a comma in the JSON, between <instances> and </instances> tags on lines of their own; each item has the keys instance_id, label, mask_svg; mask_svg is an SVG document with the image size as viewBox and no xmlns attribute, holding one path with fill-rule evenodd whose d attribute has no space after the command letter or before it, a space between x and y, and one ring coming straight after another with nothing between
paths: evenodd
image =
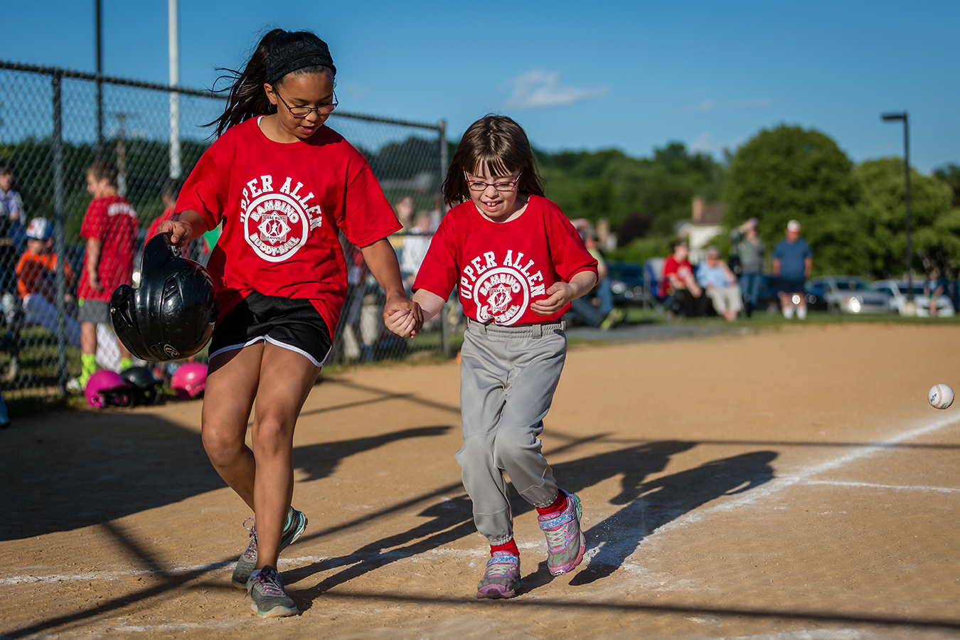
<instances>
[{"instance_id":1,"label":"red t-shirt on child in grey shorts behind chain-link fence","mask_svg":"<svg viewBox=\"0 0 960 640\"><path fill-rule=\"evenodd\" d=\"M100 291L89 282L84 267L80 275L77 297L85 300L108 301L113 291L122 284L131 284L133 273L133 244L136 242L136 211L123 196L107 196L90 202L80 225L80 237L100 241L100 260L97 277ZM85 259L89 260L89 256Z\"/></svg>"}]
</instances>

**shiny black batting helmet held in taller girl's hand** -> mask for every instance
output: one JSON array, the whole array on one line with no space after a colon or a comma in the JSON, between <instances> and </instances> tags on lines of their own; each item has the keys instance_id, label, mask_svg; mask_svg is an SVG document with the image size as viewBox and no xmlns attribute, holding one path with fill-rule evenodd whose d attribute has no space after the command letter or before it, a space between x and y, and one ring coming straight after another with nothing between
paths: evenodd
<instances>
[{"instance_id":1,"label":"shiny black batting helmet held in taller girl's hand","mask_svg":"<svg viewBox=\"0 0 960 640\"><path fill-rule=\"evenodd\" d=\"M147 242L140 285L120 285L110 298L110 318L120 342L141 360L182 360L204 348L217 320L209 273L180 257L170 233Z\"/></svg>"}]
</instances>

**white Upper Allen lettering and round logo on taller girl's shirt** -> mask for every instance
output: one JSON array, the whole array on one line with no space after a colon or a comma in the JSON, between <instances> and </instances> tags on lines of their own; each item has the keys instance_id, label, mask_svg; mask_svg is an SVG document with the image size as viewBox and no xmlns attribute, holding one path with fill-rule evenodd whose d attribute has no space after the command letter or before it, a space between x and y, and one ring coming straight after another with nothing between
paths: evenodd
<instances>
[{"instance_id":1,"label":"white Upper Allen lettering and round logo on taller girl's shirt","mask_svg":"<svg viewBox=\"0 0 960 640\"><path fill-rule=\"evenodd\" d=\"M244 186L240 218L244 238L256 254L270 262L282 262L306 244L310 230L321 225L320 205L311 205L313 192L300 194L301 182L292 186L286 178L274 191L274 178L260 176Z\"/></svg>"}]
</instances>

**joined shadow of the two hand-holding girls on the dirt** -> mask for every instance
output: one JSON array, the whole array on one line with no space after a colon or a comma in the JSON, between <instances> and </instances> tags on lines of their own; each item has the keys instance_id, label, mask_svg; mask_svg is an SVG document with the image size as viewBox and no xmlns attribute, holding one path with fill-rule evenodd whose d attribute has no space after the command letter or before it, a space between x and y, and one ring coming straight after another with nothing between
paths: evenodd
<instances>
[{"instance_id":1,"label":"joined shadow of the two hand-holding girls on the dirt","mask_svg":"<svg viewBox=\"0 0 960 640\"><path fill-rule=\"evenodd\" d=\"M715 498L750 490L773 478L770 462L777 454L758 451L644 482L662 471L672 456L695 444L679 440L652 442L553 466L564 489L573 492L614 476L623 476L622 489L611 503L624 507L586 532L588 548L599 547L600 550L571 584L586 584L611 575L636 551L643 538L663 524ZM455 490L456 486L446 489ZM513 509L516 517L533 508L515 498ZM432 519L409 531L376 540L348 556L328 558L287 571L285 579L292 584L321 571L343 567L342 571L301 592L303 601L311 602L338 584L391 562L443 547L476 531L470 501L465 495L431 505L419 515ZM546 563L541 562L537 571L523 578L524 591L550 580L552 577L546 571Z\"/></svg>"}]
</instances>

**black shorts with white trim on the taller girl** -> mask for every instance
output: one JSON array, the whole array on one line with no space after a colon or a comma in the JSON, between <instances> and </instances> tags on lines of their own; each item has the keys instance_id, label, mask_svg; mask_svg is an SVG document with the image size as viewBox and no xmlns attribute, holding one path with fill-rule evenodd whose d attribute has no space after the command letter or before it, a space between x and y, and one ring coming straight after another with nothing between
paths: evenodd
<instances>
[{"instance_id":1,"label":"black shorts with white trim on the taller girl","mask_svg":"<svg viewBox=\"0 0 960 640\"><path fill-rule=\"evenodd\" d=\"M316 367L330 355L330 330L310 300L253 292L217 324L209 357L260 341L296 351Z\"/></svg>"}]
</instances>

